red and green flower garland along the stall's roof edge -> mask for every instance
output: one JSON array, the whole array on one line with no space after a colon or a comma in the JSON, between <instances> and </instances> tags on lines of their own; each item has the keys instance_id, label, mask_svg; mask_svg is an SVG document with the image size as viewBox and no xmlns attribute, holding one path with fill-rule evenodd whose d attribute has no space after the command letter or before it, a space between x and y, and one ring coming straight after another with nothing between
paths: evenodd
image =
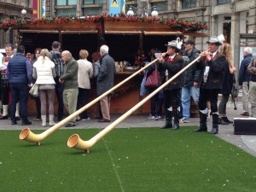
<instances>
[{"instance_id":1,"label":"red and green flower garland along the stall's roof edge","mask_svg":"<svg viewBox=\"0 0 256 192\"><path fill-rule=\"evenodd\" d=\"M141 22L141 23L160 23L162 25L172 26L172 28L176 28L179 31L185 32L197 32L204 29L207 29L207 22L206 21L196 21L196 20L180 20L180 19L170 19L164 17L143 17L141 15L137 16L128 16L125 14L119 15L95 15L95 16L84 16L84 17L77 17L77 16L57 16L55 18L50 19L23 19L23 18L16 18L10 20L0 20L0 27L9 27L9 26L23 26L23 25L38 25L38 24L66 24L68 22L75 22L78 24L82 24L85 22L100 22L101 20L112 20L112 21L119 21L125 20L127 22ZM97 27L98 30L102 27Z\"/></svg>"}]
</instances>

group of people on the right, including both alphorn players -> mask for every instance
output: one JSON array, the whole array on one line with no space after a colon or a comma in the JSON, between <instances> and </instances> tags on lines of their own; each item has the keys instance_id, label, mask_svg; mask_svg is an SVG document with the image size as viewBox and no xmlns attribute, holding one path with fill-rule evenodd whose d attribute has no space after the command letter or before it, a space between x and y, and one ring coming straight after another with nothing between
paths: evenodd
<instances>
[{"instance_id":1,"label":"group of people on the right, including both alphorn players","mask_svg":"<svg viewBox=\"0 0 256 192\"><path fill-rule=\"evenodd\" d=\"M183 75L172 80L164 88L166 123L161 129L176 130L179 128L179 123L189 123L191 97L199 108L200 116L200 125L195 132L207 131L207 120L210 113L212 114L212 130L209 132L212 134L218 134L218 125L233 123L228 119L226 113L226 105L237 71L232 63L231 46L214 36L207 41L207 44L208 49L200 51L195 48L195 41L192 39L183 43L183 49L175 40L168 42L166 44L167 53L161 54L157 58L156 64L152 65L153 67L148 67L147 76L156 68L161 74L161 84L163 84L183 67L196 60L193 66L183 72ZM244 59L241 61L239 70L239 85L242 85L244 110L241 115L249 116L249 97L252 105L251 116L255 117L256 103L253 98L255 98L256 59L252 59L255 58L252 55L252 48L244 48L243 55ZM249 63L251 64L249 65ZM219 94L222 97L218 103ZM154 97L153 101L155 101ZM158 109L158 111L160 110ZM151 102L149 119L153 119L154 115L157 116L157 112L154 102Z\"/></svg>"}]
</instances>

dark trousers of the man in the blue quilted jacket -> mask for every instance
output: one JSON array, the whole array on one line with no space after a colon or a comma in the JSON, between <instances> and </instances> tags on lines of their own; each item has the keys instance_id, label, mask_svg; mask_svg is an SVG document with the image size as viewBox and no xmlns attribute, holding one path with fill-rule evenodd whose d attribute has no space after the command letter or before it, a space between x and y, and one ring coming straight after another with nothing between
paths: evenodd
<instances>
[{"instance_id":1,"label":"dark trousers of the man in the blue quilted jacket","mask_svg":"<svg viewBox=\"0 0 256 192\"><path fill-rule=\"evenodd\" d=\"M12 93L11 101L11 119L15 119L16 103L20 100L20 112L22 121L27 120L27 99L28 99L28 86L27 84L10 84Z\"/></svg>"}]
</instances>

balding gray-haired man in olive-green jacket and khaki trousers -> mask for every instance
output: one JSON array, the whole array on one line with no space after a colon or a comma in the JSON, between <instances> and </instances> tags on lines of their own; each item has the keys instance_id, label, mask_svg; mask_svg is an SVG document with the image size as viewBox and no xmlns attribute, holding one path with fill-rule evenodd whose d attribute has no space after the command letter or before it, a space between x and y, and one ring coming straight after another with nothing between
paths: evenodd
<instances>
[{"instance_id":1,"label":"balding gray-haired man in olive-green jacket and khaki trousers","mask_svg":"<svg viewBox=\"0 0 256 192\"><path fill-rule=\"evenodd\" d=\"M65 62L63 75L59 79L60 83L64 84L63 102L68 113L72 114L76 112L79 95L79 64L68 50L62 51L61 59ZM75 125L76 118L74 118L72 122L68 123L66 127L72 127Z\"/></svg>"}]
</instances>

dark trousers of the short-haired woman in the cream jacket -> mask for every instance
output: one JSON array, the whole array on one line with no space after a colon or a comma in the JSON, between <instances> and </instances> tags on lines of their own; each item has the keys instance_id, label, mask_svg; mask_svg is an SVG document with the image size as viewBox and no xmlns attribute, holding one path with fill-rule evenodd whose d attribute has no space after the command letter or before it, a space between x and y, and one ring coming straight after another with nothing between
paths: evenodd
<instances>
[{"instance_id":1,"label":"dark trousers of the short-haired woman in the cream jacket","mask_svg":"<svg viewBox=\"0 0 256 192\"><path fill-rule=\"evenodd\" d=\"M89 89L79 88L77 110L79 110L79 108L83 108L86 104L88 104L89 96L90 96L90 90ZM87 110L85 110L83 113L81 113L80 118L81 119L87 119L88 118Z\"/></svg>"}]
</instances>

